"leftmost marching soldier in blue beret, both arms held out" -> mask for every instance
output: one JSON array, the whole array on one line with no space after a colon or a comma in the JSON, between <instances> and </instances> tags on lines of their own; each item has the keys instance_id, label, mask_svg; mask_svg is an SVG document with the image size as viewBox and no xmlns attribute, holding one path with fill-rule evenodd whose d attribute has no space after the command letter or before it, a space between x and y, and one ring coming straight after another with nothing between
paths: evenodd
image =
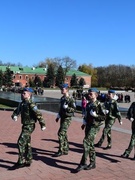
<instances>
[{"instance_id":1,"label":"leftmost marching soldier in blue beret, both arms held out","mask_svg":"<svg viewBox=\"0 0 135 180\"><path fill-rule=\"evenodd\" d=\"M12 119L17 121L17 116L21 114L22 131L18 139L19 158L13 168L30 166L32 162L31 134L35 129L35 123L38 120L41 130L45 130L45 121L37 106L32 102L31 88L24 88L21 93L22 102L14 110Z\"/></svg>"}]
</instances>

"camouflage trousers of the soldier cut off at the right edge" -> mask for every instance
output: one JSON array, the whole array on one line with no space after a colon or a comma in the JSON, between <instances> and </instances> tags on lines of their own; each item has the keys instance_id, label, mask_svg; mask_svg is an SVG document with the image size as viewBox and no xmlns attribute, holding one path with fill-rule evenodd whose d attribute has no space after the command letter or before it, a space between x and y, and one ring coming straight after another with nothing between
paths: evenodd
<instances>
[{"instance_id":1,"label":"camouflage trousers of the soldier cut off at the right edge","mask_svg":"<svg viewBox=\"0 0 135 180\"><path fill-rule=\"evenodd\" d=\"M135 120L132 122L132 135L130 138L130 143L128 148L125 150L124 154L129 155L133 148L135 148ZM134 152L134 156L135 156L135 152Z\"/></svg>"}]
</instances>

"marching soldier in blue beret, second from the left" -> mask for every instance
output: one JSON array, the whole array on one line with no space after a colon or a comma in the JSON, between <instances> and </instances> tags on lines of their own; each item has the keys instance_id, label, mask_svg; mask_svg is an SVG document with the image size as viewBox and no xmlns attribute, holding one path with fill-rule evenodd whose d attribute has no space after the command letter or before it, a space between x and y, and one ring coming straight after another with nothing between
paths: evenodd
<instances>
[{"instance_id":1,"label":"marching soldier in blue beret, second from the left","mask_svg":"<svg viewBox=\"0 0 135 180\"><path fill-rule=\"evenodd\" d=\"M63 96L60 99L60 110L56 118L56 122L60 119L60 128L58 130L59 150L54 155L55 157L67 155L69 151L69 143L67 137L67 130L71 124L71 119L75 110L75 101L69 95L68 84L61 86L61 93Z\"/></svg>"}]
</instances>

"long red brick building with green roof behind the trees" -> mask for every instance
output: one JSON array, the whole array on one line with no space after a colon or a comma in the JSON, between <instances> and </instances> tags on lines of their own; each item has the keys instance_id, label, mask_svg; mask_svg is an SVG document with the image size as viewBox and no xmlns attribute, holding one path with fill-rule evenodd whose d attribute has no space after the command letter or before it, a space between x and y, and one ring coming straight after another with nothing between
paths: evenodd
<instances>
[{"instance_id":1,"label":"long red brick building with green roof behind the trees","mask_svg":"<svg viewBox=\"0 0 135 180\"><path fill-rule=\"evenodd\" d=\"M6 71L7 66L0 66L0 70L2 72ZM38 75L41 81L46 77L47 69L39 68L39 67L18 67L18 66L10 66L12 74L13 74L13 82L15 85L21 85L22 87L29 84L29 79L34 80L35 76ZM73 74L76 74L77 79L83 78L86 82L86 87L91 87L91 75L83 73L77 70L70 70L66 74L65 83L70 85L70 80Z\"/></svg>"}]
</instances>

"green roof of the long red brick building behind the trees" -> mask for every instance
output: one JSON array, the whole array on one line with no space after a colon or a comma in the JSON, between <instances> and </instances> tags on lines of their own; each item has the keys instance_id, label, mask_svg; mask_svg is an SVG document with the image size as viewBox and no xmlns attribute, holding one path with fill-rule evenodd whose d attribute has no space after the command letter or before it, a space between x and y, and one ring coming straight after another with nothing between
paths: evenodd
<instances>
[{"instance_id":1,"label":"green roof of the long red brick building behind the trees","mask_svg":"<svg viewBox=\"0 0 135 180\"><path fill-rule=\"evenodd\" d=\"M6 71L6 68L8 66L0 66L0 70ZM13 71L14 74L20 73L20 74L42 74L46 75L47 69L46 68L39 68L39 67L18 67L18 66L9 66L11 71ZM83 73L81 71L77 70L69 70L66 75L67 76L72 76L73 74L76 74L76 76L91 76L89 74Z\"/></svg>"}]
</instances>

